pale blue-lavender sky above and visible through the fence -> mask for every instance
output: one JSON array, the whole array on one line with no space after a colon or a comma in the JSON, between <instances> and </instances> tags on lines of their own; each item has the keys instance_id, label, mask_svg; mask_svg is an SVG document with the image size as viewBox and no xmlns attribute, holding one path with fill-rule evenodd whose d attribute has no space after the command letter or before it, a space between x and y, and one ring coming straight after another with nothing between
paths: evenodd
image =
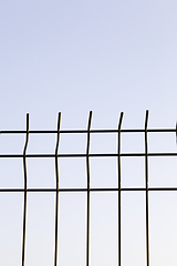
<instances>
[{"instance_id":1,"label":"pale blue-lavender sky above and visible through the fence","mask_svg":"<svg viewBox=\"0 0 177 266\"><path fill-rule=\"evenodd\" d=\"M174 129L177 121L175 0L0 1L0 130ZM22 153L24 135L0 135L0 153ZM29 153L52 153L55 135L31 135ZM91 152L116 152L117 136L91 136ZM175 134L148 134L149 152L176 152ZM60 152L84 153L85 135L62 135ZM144 152L144 135L122 136ZM0 186L22 187L20 158L0 160ZM85 186L85 161L60 160L60 185ZM74 176L74 180L72 178ZM91 185L116 186L114 158L91 160ZM123 186L144 186L143 158L122 160ZM149 185L177 185L176 157L149 158ZM54 186L53 160L28 160L29 187ZM150 266L176 265L177 194L149 193ZM22 194L0 194L0 264L21 262ZM83 194L60 196L60 266L85 265ZM123 266L145 263L145 195L122 196ZM91 196L91 265L117 264L117 194ZM27 266L53 264L54 195L28 198ZM11 254L11 255L10 255Z\"/></svg>"}]
</instances>

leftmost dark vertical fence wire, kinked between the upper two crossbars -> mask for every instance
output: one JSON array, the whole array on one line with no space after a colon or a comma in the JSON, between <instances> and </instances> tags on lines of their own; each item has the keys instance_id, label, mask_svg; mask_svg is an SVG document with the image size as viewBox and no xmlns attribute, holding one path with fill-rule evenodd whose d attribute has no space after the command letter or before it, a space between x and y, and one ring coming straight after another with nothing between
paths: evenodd
<instances>
[{"instance_id":1,"label":"leftmost dark vertical fence wire, kinked between the upper two crossbars","mask_svg":"<svg viewBox=\"0 0 177 266\"><path fill-rule=\"evenodd\" d=\"M27 135L25 135L25 144L23 150L23 173L24 173L24 206L23 206L23 238L22 238L22 266L24 266L25 258L25 225L27 225L27 147L29 143L29 113L27 114Z\"/></svg>"}]
</instances>

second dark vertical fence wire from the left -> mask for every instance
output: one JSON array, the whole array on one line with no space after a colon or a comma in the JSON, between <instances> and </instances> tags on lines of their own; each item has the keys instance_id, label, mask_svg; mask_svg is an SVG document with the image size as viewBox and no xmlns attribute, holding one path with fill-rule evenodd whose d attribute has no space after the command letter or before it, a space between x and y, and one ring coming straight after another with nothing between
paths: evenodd
<instances>
[{"instance_id":1,"label":"second dark vertical fence wire from the left","mask_svg":"<svg viewBox=\"0 0 177 266\"><path fill-rule=\"evenodd\" d=\"M56 195L55 195L55 243L54 243L54 266L58 265L58 231L59 231L59 164L58 164L58 151L60 142L60 124L61 113L58 116L58 139L55 146L55 177L56 177Z\"/></svg>"}]
</instances>

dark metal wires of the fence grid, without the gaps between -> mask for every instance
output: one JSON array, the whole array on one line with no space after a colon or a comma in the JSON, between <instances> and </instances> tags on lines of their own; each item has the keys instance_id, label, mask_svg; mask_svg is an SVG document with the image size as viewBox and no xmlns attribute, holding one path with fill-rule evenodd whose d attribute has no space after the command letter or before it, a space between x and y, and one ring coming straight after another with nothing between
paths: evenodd
<instances>
[{"instance_id":1,"label":"dark metal wires of the fence grid, without the gaps between","mask_svg":"<svg viewBox=\"0 0 177 266\"><path fill-rule=\"evenodd\" d=\"M23 188L0 188L0 192L22 192L23 193L23 235L22 235L22 262L21 265L25 265L25 234L27 234L27 195L30 192L54 192L55 193L55 242L54 242L54 266L58 265L58 232L59 232L59 193L60 192L86 192L87 194L87 203L86 203L86 262L85 265L90 266L90 193L91 192L117 192L118 193L118 266L122 266L122 192L123 191L144 191L146 193L146 265L149 266L149 215L148 215L148 192L149 191L177 191L177 187L148 187L148 157L153 156L177 156L177 153L148 153L148 133L167 133L174 132L177 135L177 126L176 129L148 129L148 110L146 110L145 115L145 125L143 130L122 130L122 121L123 121L123 112L119 115L119 122L117 130L91 130L92 122L92 111L88 115L87 130L60 130L61 125L61 113L59 113L58 117L58 130L56 131L30 131L29 129L29 114L27 114L27 130L25 131L0 131L0 134L25 134L25 144L23 149L23 154L0 154L0 157L21 157L23 160L23 176L24 176L24 187ZM122 153L121 152L121 135L122 133L144 133L145 140L145 152L144 153ZM29 135L30 134L56 134L56 145L54 154L27 154ZM60 135L61 134L75 134L83 133L87 134L87 143L86 143L86 152L84 154L60 154L59 153L59 144L60 144ZM96 133L117 133L117 153L107 153L107 154L95 154L90 153L90 139L91 134ZM117 157L117 180L118 187L114 188L92 188L90 187L90 157ZM133 157L133 156L143 156L145 158L145 187L122 187L122 176L121 176L121 157ZM28 171L27 171L27 157L54 157L55 160L55 188L28 188ZM85 157L86 158L86 177L87 177L87 186L86 188L60 188L59 186L59 157Z\"/></svg>"}]
</instances>

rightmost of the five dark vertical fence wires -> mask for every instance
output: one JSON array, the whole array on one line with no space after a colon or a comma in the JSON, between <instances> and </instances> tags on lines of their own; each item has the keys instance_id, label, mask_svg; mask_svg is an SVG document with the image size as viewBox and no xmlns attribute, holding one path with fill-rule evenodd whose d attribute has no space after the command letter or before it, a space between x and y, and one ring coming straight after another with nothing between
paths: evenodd
<instances>
[{"instance_id":1,"label":"rightmost of the five dark vertical fence wires","mask_svg":"<svg viewBox=\"0 0 177 266\"><path fill-rule=\"evenodd\" d=\"M146 260L149 266L149 219L148 219L148 146L147 146L148 110L145 117L145 181L146 181Z\"/></svg>"}]
</instances>

